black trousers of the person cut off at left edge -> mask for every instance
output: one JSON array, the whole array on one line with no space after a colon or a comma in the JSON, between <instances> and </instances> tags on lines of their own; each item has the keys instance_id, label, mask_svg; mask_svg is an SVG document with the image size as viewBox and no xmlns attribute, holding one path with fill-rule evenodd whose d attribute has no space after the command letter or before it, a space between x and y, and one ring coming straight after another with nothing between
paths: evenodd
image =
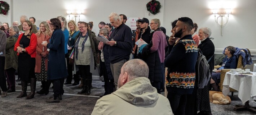
<instances>
[{"instance_id":1,"label":"black trousers of the person cut off at left edge","mask_svg":"<svg viewBox=\"0 0 256 115\"><path fill-rule=\"evenodd\" d=\"M7 91L6 78L4 74L5 57L0 56L0 87L3 92Z\"/></svg>"}]
</instances>

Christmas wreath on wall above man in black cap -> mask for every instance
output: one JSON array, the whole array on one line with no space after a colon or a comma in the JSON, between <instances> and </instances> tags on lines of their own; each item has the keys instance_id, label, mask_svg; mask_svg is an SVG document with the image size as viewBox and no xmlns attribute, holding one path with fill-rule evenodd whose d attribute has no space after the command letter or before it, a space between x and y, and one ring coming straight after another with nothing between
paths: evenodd
<instances>
[{"instance_id":1,"label":"Christmas wreath on wall above man in black cap","mask_svg":"<svg viewBox=\"0 0 256 115\"><path fill-rule=\"evenodd\" d=\"M159 1L151 0L149 3L147 3L147 11L149 11L152 14L157 14L160 12L161 5Z\"/></svg>"}]
</instances>

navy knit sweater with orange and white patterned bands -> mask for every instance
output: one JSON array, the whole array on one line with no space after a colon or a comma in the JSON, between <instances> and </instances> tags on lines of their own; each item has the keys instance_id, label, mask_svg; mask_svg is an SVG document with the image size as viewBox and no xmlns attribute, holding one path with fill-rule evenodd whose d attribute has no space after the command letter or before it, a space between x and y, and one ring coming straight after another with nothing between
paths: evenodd
<instances>
[{"instance_id":1,"label":"navy knit sweater with orange and white patterned bands","mask_svg":"<svg viewBox=\"0 0 256 115\"><path fill-rule=\"evenodd\" d=\"M181 38L175 45L168 47L165 83L168 92L191 94L195 83L195 63L197 62L197 44L191 35Z\"/></svg>"}]
</instances>

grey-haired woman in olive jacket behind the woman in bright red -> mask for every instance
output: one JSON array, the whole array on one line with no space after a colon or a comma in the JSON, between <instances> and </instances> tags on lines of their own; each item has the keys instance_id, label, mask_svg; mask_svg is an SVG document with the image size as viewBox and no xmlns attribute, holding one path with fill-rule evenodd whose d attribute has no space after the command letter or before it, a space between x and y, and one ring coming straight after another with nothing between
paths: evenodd
<instances>
[{"instance_id":1,"label":"grey-haired woman in olive jacket behind the woman in bright red","mask_svg":"<svg viewBox=\"0 0 256 115\"><path fill-rule=\"evenodd\" d=\"M17 52L14 51L14 45L18 40L19 28L17 26L12 26L9 29L9 33L10 37L6 40L4 67L8 84L8 93L15 92L15 71L18 70L18 56Z\"/></svg>"}]
</instances>

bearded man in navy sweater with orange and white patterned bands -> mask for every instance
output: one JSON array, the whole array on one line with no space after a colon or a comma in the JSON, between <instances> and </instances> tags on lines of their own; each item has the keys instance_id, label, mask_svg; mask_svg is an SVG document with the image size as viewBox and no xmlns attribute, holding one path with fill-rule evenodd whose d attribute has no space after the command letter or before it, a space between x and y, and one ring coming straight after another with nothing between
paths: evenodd
<instances>
[{"instance_id":1,"label":"bearded man in navy sweater with orange and white patterned bands","mask_svg":"<svg viewBox=\"0 0 256 115\"><path fill-rule=\"evenodd\" d=\"M178 18L173 35L168 42L168 56L164 60L167 67L167 98L174 115L185 115L187 94L191 94L195 83L195 63L197 44L190 35L193 21L188 17ZM176 43L176 38L181 38Z\"/></svg>"}]
</instances>

